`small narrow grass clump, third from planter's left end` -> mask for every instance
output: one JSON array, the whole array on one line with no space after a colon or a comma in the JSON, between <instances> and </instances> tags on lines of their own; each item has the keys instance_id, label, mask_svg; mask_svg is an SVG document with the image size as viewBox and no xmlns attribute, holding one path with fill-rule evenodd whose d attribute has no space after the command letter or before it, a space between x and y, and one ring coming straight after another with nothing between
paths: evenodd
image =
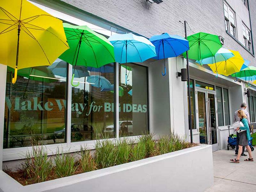
<instances>
[{"instance_id":1,"label":"small narrow grass clump, third from planter's left end","mask_svg":"<svg viewBox=\"0 0 256 192\"><path fill-rule=\"evenodd\" d=\"M83 172L89 172L97 169L97 164L91 155L90 150L81 146L79 164Z\"/></svg>"}]
</instances>

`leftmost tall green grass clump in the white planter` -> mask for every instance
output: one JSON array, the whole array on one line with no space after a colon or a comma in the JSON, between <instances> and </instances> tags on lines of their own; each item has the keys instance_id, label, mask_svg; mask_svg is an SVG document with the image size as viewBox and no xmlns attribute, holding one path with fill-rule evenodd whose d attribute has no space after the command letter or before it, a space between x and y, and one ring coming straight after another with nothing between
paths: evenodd
<instances>
[{"instance_id":1,"label":"leftmost tall green grass clump in the white planter","mask_svg":"<svg viewBox=\"0 0 256 192\"><path fill-rule=\"evenodd\" d=\"M52 171L51 158L47 158L47 152L43 147L32 147L32 152L27 153L23 164L25 175L33 182L43 182L50 178Z\"/></svg>"}]
</instances>

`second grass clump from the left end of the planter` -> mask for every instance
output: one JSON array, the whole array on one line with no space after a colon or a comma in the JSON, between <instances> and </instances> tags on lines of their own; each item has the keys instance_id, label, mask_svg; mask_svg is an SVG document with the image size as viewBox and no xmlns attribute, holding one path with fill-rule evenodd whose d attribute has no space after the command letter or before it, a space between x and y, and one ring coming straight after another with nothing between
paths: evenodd
<instances>
[{"instance_id":1,"label":"second grass clump from the left end of the planter","mask_svg":"<svg viewBox=\"0 0 256 192\"><path fill-rule=\"evenodd\" d=\"M75 157L71 153L64 153L63 151L58 150L58 154L54 158L54 171L57 177L67 177L74 175L77 169L75 162Z\"/></svg>"}]
</instances>

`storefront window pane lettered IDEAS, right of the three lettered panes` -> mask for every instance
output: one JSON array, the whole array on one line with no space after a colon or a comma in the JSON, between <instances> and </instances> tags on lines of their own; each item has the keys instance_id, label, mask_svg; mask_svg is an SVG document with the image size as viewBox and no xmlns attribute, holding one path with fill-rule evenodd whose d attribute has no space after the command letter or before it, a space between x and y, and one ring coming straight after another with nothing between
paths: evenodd
<instances>
[{"instance_id":1,"label":"storefront window pane lettered IDEAS, right of the three lettered panes","mask_svg":"<svg viewBox=\"0 0 256 192\"><path fill-rule=\"evenodd\" d=\"M119 103L119 136L148 133L147 67L133 63L128 63L127 67L119 64Z\"/></svg>"}]
</instances>

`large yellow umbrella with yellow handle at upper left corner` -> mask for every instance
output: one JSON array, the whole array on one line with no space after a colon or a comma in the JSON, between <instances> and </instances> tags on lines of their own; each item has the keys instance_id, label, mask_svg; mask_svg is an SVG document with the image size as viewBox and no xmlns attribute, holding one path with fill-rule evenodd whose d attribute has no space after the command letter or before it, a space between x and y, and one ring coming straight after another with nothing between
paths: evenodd
<instances>
[{"instance_id":1,"label":"large yellow umbrella with yellow handle at upper left corner","mask_svg":"<svg viewBox=\"0 0 256 192\"><path fill-rule=\"evenodd\" d=\"M62 21L27 0L0 2L0 63L15 69L51 65L68 47Z\"/></svg>"}]
</instances>

